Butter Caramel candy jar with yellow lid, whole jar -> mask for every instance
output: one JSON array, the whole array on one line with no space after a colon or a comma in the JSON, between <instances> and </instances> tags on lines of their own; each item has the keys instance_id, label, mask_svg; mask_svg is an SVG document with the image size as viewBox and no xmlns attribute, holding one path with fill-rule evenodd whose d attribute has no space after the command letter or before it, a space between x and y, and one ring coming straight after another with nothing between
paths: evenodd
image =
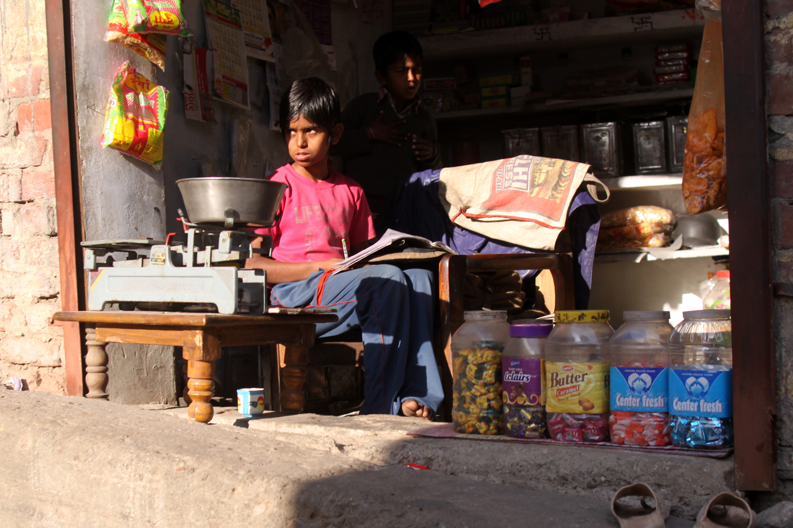
<instances>
[{"instance_id":1,"label":"Butter Caramel candy jar with yellow lid, whole jar","mask_svg":"<svg viewBox=\"0 0 793 528\"><path fill-rule=\"evenodd\" d=\"M546 341L548 429L563 442L608 441L608 310L557 312Z\"/></svg>"}]
</instances>

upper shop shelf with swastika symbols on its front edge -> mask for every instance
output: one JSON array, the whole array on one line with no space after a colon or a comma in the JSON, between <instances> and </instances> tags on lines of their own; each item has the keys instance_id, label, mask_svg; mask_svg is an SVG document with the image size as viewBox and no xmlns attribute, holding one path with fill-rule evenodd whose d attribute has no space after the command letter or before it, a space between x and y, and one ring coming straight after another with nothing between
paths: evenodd
<instances>
[{"instance_id":1,"label":"upper shop shelf with swastika symbols on its front edge","mask_svg":"<svg viewBox=\"0 0 793 528\"><path fill-rule=\"evenodd\" d=\"M695 9L592 18L557 24L484 29L419 38L427 61L530 51L570 50L611 44L691 40L700 36L704 17Z\"/></svg>"}]
</instances>

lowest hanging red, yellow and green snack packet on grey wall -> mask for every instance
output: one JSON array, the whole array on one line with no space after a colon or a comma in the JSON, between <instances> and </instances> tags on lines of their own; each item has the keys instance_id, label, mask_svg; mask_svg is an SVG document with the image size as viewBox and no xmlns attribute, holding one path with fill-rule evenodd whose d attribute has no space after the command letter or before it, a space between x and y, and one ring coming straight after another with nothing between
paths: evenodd
<instances>
[{"instance_id":1,"label":"lowest hanging red, yellow and green snack packet on grey wall","mask_svg":"<svg viewBox=\"0 0 793 528\"><path fill-rule=\"evenodd\" d=\"M137 73L128 62L122 64L110 87L102 146L159 167L167 113L168 90Z\"/></svg>"}]
</instances>

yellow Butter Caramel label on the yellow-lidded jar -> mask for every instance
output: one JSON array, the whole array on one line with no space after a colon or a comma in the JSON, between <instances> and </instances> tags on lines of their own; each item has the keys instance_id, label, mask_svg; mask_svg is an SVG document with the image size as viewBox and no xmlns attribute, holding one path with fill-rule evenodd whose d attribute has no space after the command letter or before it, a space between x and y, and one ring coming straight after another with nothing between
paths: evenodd
<instances>
[{"instance_id":1,"label":"yellow Butter Caramel label on the yellow-lidded jar","mask_svg":"<svg viewBox=\"0 0 793 528\"><path fill-rule=\"evenodd\" d=\"M548 412L608 412L610 363L546 361Z\"/></svg>"}]
</instances>

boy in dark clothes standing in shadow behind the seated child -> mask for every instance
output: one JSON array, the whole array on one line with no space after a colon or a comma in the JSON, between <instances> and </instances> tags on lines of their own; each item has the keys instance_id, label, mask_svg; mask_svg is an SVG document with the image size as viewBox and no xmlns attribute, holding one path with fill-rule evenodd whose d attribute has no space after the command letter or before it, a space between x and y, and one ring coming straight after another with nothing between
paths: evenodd
<instances>
[{"instance_id":1,"label":"boy in dark clothes standing in shadow behind the seated child","mask_svg":"<svg viewBox=\"0 0 793 528\"><path fill-rule=\"evenodd\" d=\"M374 43L379 93L356 97L342 113L344 133L333 154L344 157L344 172L361 184L378 234L388 227L389 208L400 180L438 169L438 131L421 106L421 44L408 32L386 33Z\"/></svg>"}]
</instances>

